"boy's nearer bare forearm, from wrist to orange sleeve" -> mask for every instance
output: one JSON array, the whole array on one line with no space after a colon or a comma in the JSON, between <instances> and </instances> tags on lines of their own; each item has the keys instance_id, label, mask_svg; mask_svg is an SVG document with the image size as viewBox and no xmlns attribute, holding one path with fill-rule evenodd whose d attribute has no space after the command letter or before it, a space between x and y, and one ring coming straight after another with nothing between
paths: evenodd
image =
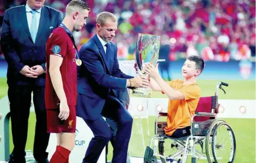
<instances>
[{"instance_id":1,"label":"boy's nearer bare forearm, from wrist to orange sleeve","mask_svg":"<svg viewBox=\"0 0 256 163\"><path fill-rule=\"evenodd\" d=\"M155 77L155 82L158 84L158 86L161 88L161 91L163 91L170 100L175 99L184 99L183 93L181 93L180 90L174 90L172 87L169 86L168 83L166 83L163 78L161 78L160 74L158 74Z\"/></svg>"}]
</instances>

